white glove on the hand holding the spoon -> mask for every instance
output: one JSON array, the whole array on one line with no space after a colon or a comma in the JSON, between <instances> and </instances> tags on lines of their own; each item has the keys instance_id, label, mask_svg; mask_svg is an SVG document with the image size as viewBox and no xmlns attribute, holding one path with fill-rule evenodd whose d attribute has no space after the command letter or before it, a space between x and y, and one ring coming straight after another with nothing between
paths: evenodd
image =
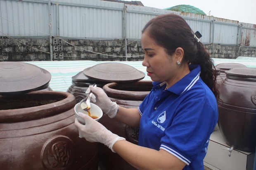
<instances>
[{"instance_id":1,"label":"white glove on the hand holding the spoon","mask_svg":"<svg viewBox=\"0 0 256 170\"><path fill-rule=\"evenodd\" d=\"M116 102L112 102L102 88L90 85L85 93L88 94L91 91L93 93L91 96L91 102L99 106L110 118L116 117L119 105L117 105Z\"/></svg>"}]
</instances>

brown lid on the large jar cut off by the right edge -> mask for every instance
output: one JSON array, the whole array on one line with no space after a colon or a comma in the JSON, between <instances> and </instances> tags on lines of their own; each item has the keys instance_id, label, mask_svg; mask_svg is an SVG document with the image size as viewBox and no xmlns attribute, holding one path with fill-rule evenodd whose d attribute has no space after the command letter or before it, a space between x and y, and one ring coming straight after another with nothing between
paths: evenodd
<instances>
[{"instance_id":1,"label":"brown lid on the large jar cut off by the right edge","mask_svg":"<svg viewBox=\"0 0 256 170\"><path fill-rule=\"evenodd\" d=\"M237 77L256 78L256 68L232 68L225 73Z\"/></svg>"}]
</instances>

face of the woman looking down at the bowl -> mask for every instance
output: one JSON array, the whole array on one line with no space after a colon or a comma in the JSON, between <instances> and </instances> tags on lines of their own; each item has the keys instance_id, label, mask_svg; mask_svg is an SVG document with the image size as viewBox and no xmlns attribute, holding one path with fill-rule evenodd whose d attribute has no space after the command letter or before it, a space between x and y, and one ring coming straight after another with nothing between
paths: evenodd
<instances>
[{"instance_id":1,"label":"face of the woman looking down at the bowl","mask_svg":"<svg viewBox=\"0 0 256 170\"><path fill-rule=\"evenodd\" d=\"M147 67L147 75L154 82L166 82L168 87L172 86L179 79L176 54L169 56L163 47L148 36L147 30L142 34L141 42L145 53L142 65Z\"/></svg>"}]
</instances>

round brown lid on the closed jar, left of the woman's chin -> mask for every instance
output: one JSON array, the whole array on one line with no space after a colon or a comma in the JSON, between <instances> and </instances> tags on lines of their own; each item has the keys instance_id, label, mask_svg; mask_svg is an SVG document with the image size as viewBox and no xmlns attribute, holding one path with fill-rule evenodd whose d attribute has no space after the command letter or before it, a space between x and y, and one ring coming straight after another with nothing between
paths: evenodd
<instances>
[{"instance_id":1,"label":"round brown lid on the closed jar, left of the woman's chin","mask_svg":"<svg viewBox=\"0 0 256 170\"><path fill-rule=\"evenodd\" d=\"M145 77L144 72L123 63L100 63L85 68L83 74L104 82L137 82Z\"/></svg>"}]
</instances>

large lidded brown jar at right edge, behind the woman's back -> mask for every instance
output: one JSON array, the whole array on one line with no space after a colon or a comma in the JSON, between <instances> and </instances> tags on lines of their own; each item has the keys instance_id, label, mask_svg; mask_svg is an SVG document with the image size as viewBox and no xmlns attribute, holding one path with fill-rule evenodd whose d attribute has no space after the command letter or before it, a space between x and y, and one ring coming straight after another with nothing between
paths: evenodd
<instances>
[{"instance_id":1,"label":"large lidded brown jar at right edge, behind the woman's back","mask_svg":"<svg viewBox=\"0 0 256 170\"><path fill-rule=\"evenodd\" d=\"M225 142L254 152L256 145L256 69L232 68L220 86L218 126Z\"/></svg>"}]
</instances>

